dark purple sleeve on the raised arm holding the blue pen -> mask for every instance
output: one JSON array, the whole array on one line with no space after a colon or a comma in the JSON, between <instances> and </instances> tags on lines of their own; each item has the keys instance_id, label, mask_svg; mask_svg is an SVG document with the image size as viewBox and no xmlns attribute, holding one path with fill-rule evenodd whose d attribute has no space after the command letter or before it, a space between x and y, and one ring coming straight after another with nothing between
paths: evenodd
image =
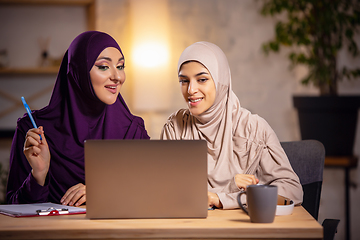
<instances>
[{"instance_id":1,"label":"dark purple sleeve on the raised arm holding the blue pen","mask_svg":"<svg viewBox=\"0 0 360 240\"><path fill-rule=\"evenodd\" d=\"M41 186L31 174L31 166L23 153L25 134L19 126L16 128L10 152L6 194L8 204L47 202L49 195L49 177Z\"/></svg>"}]
</instances>

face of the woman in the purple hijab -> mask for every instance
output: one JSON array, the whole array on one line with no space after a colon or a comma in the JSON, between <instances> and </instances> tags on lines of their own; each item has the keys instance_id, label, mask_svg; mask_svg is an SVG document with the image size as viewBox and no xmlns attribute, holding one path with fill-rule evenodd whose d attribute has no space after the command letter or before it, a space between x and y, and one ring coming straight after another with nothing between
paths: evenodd
<instances>
[{"instance_id":1,"label":"face of the woman in the purple hijab","mask_svg":"<svg viewBox=\"0 0 360 240\"><path fill-rule=\"evenodd\" d=\"M90 70L90 79L96 96L105 104L115 103L125 82L124 57L114 47L105 48Z\"/></svg>"}]
</instances>

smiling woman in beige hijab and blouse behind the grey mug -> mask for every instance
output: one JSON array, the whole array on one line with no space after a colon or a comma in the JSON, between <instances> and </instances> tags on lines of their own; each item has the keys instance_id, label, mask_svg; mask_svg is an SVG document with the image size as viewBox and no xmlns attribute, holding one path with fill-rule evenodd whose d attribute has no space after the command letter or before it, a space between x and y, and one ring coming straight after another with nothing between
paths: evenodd
<instances>
[{"instance_id":1,"label":"smiling woman in beige hijab and blouse behind the grey mug","mask_svg":"<svg viewBox=\"0 0 360 240\"><path fill-rule=\"evenodd\" d=\"M180 56L178 75L188 109L169 117L161 139L207 141L209 207L238 208L239 192L257 183L276 185L279 195L300 204L298 176L269 124L240 106L223 51L192 44Z\"/></svg>"}]
</instances>

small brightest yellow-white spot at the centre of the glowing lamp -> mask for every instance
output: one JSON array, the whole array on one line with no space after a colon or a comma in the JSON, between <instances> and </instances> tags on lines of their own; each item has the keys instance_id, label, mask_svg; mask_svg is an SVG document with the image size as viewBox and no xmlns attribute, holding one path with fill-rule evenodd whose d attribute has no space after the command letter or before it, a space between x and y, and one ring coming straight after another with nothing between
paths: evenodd
<instances>
[{"instance_id":1,"label":"small brightest yellow-white spot at the centre of the glowing lamp","mask_svg":"<svg viewBox=\"0 0 360 240\"><path fill-rule=\"evenodd\" d=\"M134 46L133 61L144 68L164 66L169 61L169 51L163 44L145 42Z\"/></svg>"}]
</instances>

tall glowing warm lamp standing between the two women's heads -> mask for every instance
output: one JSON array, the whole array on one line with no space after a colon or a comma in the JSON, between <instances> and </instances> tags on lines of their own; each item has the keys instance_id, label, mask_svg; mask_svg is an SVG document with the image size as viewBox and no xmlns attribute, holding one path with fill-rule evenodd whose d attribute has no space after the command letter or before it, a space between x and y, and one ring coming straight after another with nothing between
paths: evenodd
<instances>
[{"instance_id":1,"label":"tall glowing warm lamp standing between the two women's heads","mask_svg":"<svg viewBox=\"0 0 360 240\"><path fill-rule=\"evenodd\" d=\"M172 67L168 0L131 0L132 109L137 112L165 111L171 99Z\"/></svg>"}]
</instances>

